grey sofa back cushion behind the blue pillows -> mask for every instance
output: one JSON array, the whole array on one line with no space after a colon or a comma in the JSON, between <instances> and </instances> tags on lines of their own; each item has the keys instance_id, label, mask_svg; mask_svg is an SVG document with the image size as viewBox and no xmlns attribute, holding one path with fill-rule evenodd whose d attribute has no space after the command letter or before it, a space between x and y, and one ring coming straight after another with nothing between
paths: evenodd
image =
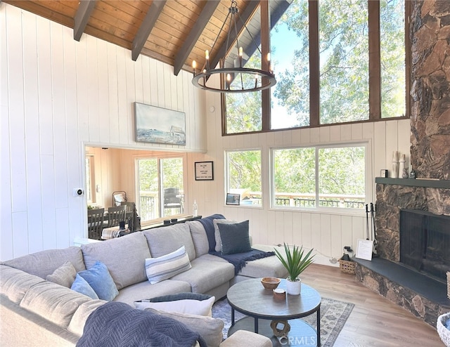
<instances>
[{"instance_id":1,"label":"grey sofa back cushion behind the blue pillows","mask_svg":"<svg viewBox=\"0 0 450 347\"><path fill-rule=\"evenodd\" d=\"M83 244L86 268L101 261L108 268L117 289L147 280L146 258L150 258L146 237L141 232L102 242Z\"/></svg>"}]
</instances>

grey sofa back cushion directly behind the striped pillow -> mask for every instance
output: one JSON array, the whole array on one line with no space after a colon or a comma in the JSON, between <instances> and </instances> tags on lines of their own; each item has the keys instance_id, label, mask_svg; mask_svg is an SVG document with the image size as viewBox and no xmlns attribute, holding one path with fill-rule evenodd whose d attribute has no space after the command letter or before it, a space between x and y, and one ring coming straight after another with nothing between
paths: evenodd
<instances>
[{"instance_id":1,"label":"grey sofa back cushion directly behind the striped pillow","mask_svg":"<svg viewBox=\"0 0 450 347\"><path fill-rule=\"evenodd\" d=\"M153 257L165 256L184 246L189 260L195 259L195 248L191 230L186 223L153 228L142 232L147 237L148 248Z\"/></svg>"}]
</instances>

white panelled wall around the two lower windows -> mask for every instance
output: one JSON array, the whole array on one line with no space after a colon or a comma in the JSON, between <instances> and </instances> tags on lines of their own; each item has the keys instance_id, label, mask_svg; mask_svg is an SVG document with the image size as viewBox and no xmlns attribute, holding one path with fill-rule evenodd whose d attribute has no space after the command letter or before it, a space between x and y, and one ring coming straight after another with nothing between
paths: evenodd
<instances>
[{"instance_id":1,"label":"white panelled wall around the two lower windows","mask_svg":"<svg viewBox=\"0 0 450 347\"><path fill-rule=\"evenodd\" d=\"M210 112L210 107L214 112ZM252 238L262 244L303 244L314 247L319 254L319 263L330 265L331 257L340 258L344 246L352 246L356 251L359 238L366 238L366 214L301 212L271 209L269 206L269 152L271 148L296 145L316 145L318 143L368 143L369 185L367 202L375 202L375 177L380 169L391 169L392 151L406 154L409 166L409 119L371 122L364 124L344 124L323 126L314 129L297 129L241 136L221 136L220 96L207 93L207 136L209 160L214 161L214 181L194 182L195 199L199 213L224 214L238 221L250 219ZM234 149L262 150L262 208L230 207L224 204L224 151Z\"/></svg>"}]
</instances>

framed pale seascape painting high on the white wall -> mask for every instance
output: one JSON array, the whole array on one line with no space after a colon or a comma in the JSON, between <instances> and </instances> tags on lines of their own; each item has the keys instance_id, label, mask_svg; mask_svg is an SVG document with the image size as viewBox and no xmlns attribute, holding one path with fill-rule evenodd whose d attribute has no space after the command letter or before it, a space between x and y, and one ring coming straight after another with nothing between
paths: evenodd
<instances>
[{"instance_id":1,"label":"framed pale seascape painting high on the white wall","mask_svg":"<svg viewBox=\"0 0 450 347\"><path fill-rule=\"evenodd\" d=\"M186 114L134 103L136 141L186 145Z\"/></svg>"}]
</instances>

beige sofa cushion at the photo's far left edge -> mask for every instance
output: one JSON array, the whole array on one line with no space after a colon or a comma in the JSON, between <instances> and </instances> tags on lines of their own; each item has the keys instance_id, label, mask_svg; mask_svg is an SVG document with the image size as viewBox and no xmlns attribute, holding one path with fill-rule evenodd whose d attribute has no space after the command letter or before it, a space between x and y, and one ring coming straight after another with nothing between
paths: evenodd
<instances>
[{"instance_id":1,"label":"beige sofa cushion at the photo's far left edge","mask_svg":"<svg viewBox=\"0 0 450 347\"><path fill-rule=\"evenodd\" d=\"M41 277L30 275L22 270L0 265L0 294L18 305L28 289L35 284L45 282Z\"/></svg>"}]
</instances>

